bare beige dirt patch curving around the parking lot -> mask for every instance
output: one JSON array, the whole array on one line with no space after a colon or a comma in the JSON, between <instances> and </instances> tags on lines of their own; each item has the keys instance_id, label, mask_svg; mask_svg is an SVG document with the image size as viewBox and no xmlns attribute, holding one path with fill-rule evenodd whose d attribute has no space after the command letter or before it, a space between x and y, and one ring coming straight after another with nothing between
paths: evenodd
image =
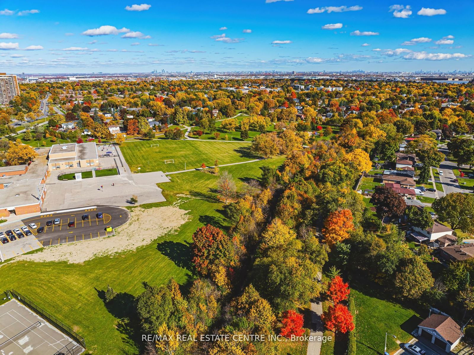
<instances>
[{"instance_id":1,"label":"bare beige dirt patch curving around the parking lot","mask_svg":"<svg viewBox=\"0 0 474 355\"><path fill-rule=\"evenodd\" d=\"M12 262L18 260L67 261L71 264L79 264L97 256L135 250L180 227L188 220L188 212L177 205L151 209L136 208L130 212L132 216L128 223L116 229L115 237L46 247L36 254L19 255Z\"/></svg>"}]
</instances>

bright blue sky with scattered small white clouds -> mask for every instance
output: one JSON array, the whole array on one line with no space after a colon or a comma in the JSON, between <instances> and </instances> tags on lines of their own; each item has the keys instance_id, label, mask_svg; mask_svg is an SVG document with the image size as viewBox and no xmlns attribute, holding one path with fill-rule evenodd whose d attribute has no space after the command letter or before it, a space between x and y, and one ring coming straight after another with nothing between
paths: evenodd
<instances>
[{"instance_id":1,"label":"bright blue sky with scattered small white clouds","mask_svg":"<svg viewBox=\"0 0 474 355\"><path fill-rule=\"evenodd\" d=\"M144 1L1 0L0 71L474 68L469 0Z\"/></svg>"}]
</instances>

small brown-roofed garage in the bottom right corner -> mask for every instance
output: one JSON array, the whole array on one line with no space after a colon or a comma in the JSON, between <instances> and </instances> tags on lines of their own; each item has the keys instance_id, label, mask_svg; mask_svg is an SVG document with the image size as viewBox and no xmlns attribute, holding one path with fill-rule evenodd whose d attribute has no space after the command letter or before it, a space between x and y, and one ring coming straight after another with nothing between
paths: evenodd
<instances>
[{"instance_id":1,"label":"small brown-roofed garage in the bottom right corner","mask_svg":"<svg viewBox=\"0 0 474 355\"><path fill-rule=\"evenodd\" d=\"M418 325L418 336L449 353L459 343L464 333L451 317L431 314Z\"/></svg>"}]
</instances>

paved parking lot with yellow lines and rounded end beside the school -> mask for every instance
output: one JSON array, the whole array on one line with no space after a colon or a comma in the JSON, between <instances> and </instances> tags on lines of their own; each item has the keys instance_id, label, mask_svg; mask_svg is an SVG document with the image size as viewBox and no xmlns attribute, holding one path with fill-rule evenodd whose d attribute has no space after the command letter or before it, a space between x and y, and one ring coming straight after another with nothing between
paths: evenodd
<instances>
[{"instance_id":1,"label":"paved parking lot with yellow lines and rounded end beside the school","mask_svg":"<svg viewBox=\"0 0 474 355\"><path fill-rule=\"evenodd\" d=\"M98 218L102 213L102 218ZM83 218L88 215L88 219ZM54 220L59 218L59 223ZM108 237L113 234L107 231L107 227L117 228L130 219L127 209L119 207L94 207L90 209L77 209L73 211L56 211L43 213L38 216L26 218L6 225L0 225L0 231L27 226L32 232L31 236L10 240L7 244L0 244L0 252L4 260L25 254L42 246L54 246L58 244L77 242L82 240ZM51 225L48 226L48 222ZM35 223L36 228L29 227ZM41 233L38 230L42 229Z\"/></svg>"}]
</instances>

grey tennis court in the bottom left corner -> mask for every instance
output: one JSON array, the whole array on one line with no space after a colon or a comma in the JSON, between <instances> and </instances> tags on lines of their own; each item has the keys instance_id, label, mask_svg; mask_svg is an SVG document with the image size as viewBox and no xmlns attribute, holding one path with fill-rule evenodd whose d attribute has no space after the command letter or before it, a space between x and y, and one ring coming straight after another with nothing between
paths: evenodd
<instances>
[{"instance_id":1,"label":"grey tennis court in the bottom left corner","mask_svg":"<svg viewBox=\"0 0 474 355\"><path fill-rule=\"evenodd\" d=\"M82 346L13 299L0 306L0 353L78 355Z\"/></svg>"}]
</instances>

